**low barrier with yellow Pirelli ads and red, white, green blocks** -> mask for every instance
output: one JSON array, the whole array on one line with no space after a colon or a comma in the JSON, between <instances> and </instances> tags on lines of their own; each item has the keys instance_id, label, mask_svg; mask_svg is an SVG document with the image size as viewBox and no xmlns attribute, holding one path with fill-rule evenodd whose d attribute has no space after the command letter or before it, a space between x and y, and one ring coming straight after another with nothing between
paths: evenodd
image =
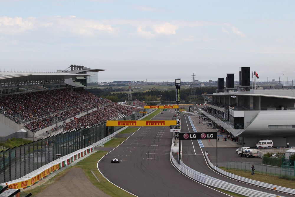
<instances>
[{"instance_id":1,"label":"low barrier with yellow Pirelli ads and red, white, green blocks","mask_svg":"<svg viewBox=\"0 0 295 197\"><path fill-rule=\"evenodd\" d=\"M50 175L55 170L59 170L60 168L71 164L73 161L83 157L86 154L93 152L93 150L93 146L88 146L71 154L60 157L59 159L56 159L53 162L50 162L49 164L32 171L31 173L23 176L22 178L9 181L7 183L1 183L0 189L4 188L6 185L9 186L9 189L24 189L30 187L42 178L46 177L47 175Z\"/></svg>"}]
</instances>

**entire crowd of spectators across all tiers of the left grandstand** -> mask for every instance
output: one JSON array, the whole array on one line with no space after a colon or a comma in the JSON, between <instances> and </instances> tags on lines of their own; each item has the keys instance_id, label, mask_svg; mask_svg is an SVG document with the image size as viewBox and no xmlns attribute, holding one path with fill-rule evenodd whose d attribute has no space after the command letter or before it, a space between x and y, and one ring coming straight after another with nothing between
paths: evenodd
<instances>
[{"instance_id":1,"label":"entire crowd of spectators across all tiers of the left grandstand","mask_svg":"<svg viewBox=\"0 0 295 197\"><path fill-rule=\"evenodd\" d=\"M97 97L84 89L57 89L0 97L0 113L14 122L24 123L24 127L34 132L94 108L98 110L70 123L64 122L62 127L68 130L93 126L140 110Z\"/></svg>"}]
</instances>

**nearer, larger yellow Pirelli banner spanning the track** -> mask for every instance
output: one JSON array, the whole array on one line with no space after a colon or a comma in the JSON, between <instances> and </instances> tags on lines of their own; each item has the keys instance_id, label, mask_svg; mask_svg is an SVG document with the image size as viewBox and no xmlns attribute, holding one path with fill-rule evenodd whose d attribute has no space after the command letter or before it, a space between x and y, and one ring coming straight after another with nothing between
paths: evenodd
<instances>
[{"instance_id":1,"label":"nearer, larger yellow Pirelli banner spanning the track","mask_svg":"<svg viewBox=\"0 0 295 197\"><path fill-rule=\"evenodd\" d=\"M106 126L170 126L176 121L106 121Z\"/></svg>"}]
</instances>

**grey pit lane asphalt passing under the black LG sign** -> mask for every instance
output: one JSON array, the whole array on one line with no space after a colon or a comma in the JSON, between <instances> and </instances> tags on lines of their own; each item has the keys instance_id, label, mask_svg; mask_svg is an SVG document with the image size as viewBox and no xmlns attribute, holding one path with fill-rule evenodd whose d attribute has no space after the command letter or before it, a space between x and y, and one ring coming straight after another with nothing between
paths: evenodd
<instances>
[{"instance_id":1,"label":"grey pit lane asphalt passing under the black LG sign","mask_svg":"<svg viewBox=\"0 0 295 197\"><path fill-rule=\"evenodd\" d=\"M188 119L188 115L185 115L184 117L181 115L181 132L194 132L193 128L191 126L191 123L189 122ZM215 141L215 140L214 140ZM216 142L216 141L215 141ZM235 185L240 185L243 187L247 187L250 189L255 189L255 190L259 190L259 191L264 191L267 193L273 193L273 190L269 190L266 188L261 188L255 185L250 185L244 182L240 182L238 180L233 180L231 178L228 178L224 175L221 175L217 172L215 172L214 170L212 170L206 163L206 160L204 158L204 155L202 153L202 151L209 151L211 154L212 158L216 158L216 148L200 148L200 145L198 143L197 140L182 140L181 141L181 148L182 148L182 158L183 158L183 163L185 163L186 165L188 165L189 167L193 168L194 170L201 172L203 174L212 176L214 178L220 179L220 180L224 180L226 182L229 183L233 183ZM227 153L226 149L229 148L219 148L218 149L218 154L219 157L218 159L221 159L221 157L227 157L227 154L232 154L232 151L235 151L235 149L229 149L230 153ZM237 154L233 153L237 158L240 158ZM212 156L214 155L214 156ZM247 158L248 159L248 158ZM257 158L253 158L253 159L257 159ZM213 160L213 159L212 159ZM214 162L216 162L216 159L214 159ZM214 163L212 161L212 163ZM226 189L226 188L224 188ZM278 196L295 196L292 194L286 194L286 193L281 193L276 191L276 195Z\"/></svg>"}]
</instances>

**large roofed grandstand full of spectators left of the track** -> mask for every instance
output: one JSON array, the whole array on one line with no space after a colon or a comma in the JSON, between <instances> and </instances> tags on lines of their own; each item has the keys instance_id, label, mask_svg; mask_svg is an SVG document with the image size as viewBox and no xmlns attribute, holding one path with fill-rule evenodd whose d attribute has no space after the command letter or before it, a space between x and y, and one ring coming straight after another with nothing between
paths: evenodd
<instances>
[{"instance_id":1,"label":"large roofed grandstand full of spectators left of the track","mask_svg":"<svg viewBox=\"0 0 295 197\"><path fill-rule=\"evenodd\" d=\"M0 136L20 129L25 129L28 137L73 131L140 110L83 89L87 76L99 71L104 70L71 65L54 73L0 72Z\"/></svg>"}]
</instances>

